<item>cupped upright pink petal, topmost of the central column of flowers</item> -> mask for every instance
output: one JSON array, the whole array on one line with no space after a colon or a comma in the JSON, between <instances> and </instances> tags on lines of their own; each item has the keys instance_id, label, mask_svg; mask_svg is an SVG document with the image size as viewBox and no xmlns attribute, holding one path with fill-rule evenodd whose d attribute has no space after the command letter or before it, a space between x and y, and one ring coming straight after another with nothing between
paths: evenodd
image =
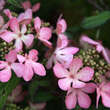
<instances>
[{"instance_id":1,"label":"cupped upright pink petal, topmost of the central column of flowers","mask_svg":"<svg viewBox=\"0 0 110 110\"><path fill-rule=\"evenodd\" d=\"M64 33L66 31L67 28L67 24L66 21L64 19L61 19L58 21L57 23L57 33Z\"/></svg>"}]
</instances>

